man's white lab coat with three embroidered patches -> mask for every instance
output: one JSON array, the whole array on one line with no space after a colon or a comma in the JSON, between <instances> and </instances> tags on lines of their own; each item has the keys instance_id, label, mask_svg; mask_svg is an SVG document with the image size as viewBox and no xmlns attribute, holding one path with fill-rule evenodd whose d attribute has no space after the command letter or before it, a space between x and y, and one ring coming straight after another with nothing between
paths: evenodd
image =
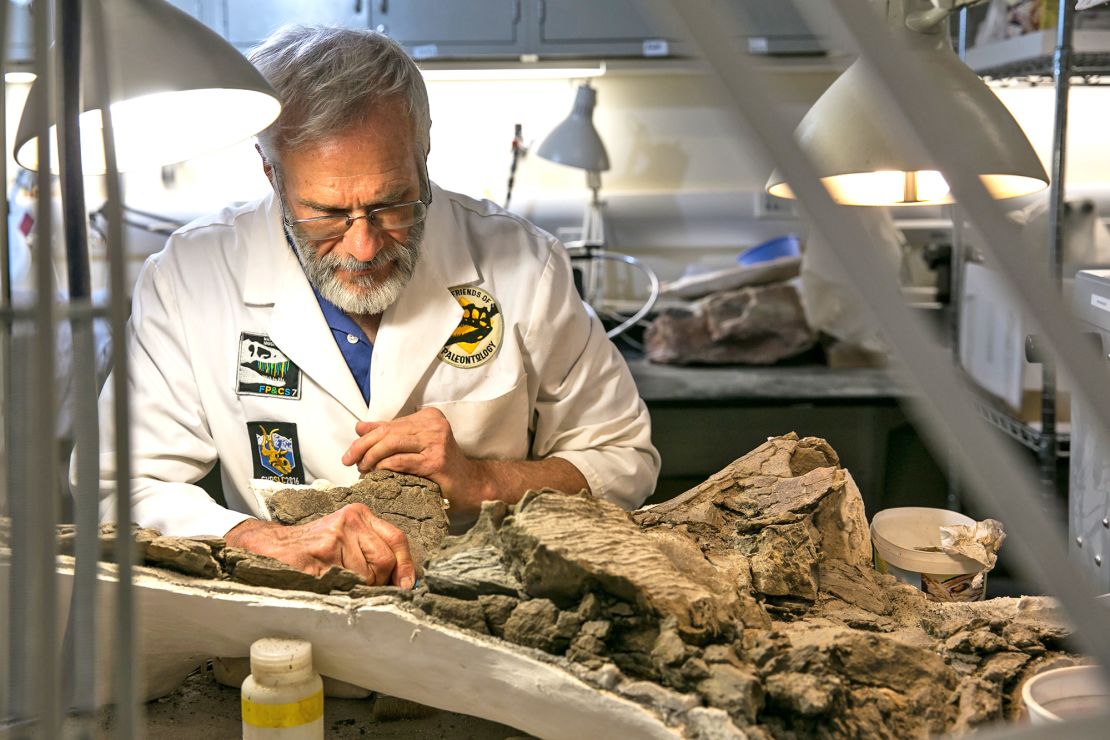
<instances>
[{"instance_id":1,"label":"man's white lab coat with three embroidered patches","mask_svg":"<svg viewBox=\"0 0 1110 740\"><path fill-rule=\"evenodd\" d=\"M148 260L127 336L137 523L219 536L269 518L252 478L350 485L359 473L341 457L355 423L426 406L470 457L562 457L594 495L644 501L659 467L647 409L565 250L488 202L433 193L415 273L374 342L369 406L272 194L182 227ZM111 388L103 520L115 506ZM194 485L216 459L229 508Z\"/></svg>"}]
</instances>

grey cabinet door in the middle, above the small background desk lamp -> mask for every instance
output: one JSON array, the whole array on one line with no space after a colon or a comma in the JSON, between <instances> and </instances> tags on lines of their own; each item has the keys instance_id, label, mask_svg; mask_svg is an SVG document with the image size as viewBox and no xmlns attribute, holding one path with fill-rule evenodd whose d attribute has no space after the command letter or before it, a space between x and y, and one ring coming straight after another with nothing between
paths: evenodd
<instances>
[{"instance_id":1,"label":"grey cabinet door in the middle, above the small background desk lamp","mask_svg":"<svg viewBox=\"0 0 1110 740\"><path fill-rule=\"evenodd\" d=\"M668 44L653 41L676 40L673 31L656 26L668 16L667 3L658 0L532 1L541 54L666 55Z\"/></svg>"}]
</instances>

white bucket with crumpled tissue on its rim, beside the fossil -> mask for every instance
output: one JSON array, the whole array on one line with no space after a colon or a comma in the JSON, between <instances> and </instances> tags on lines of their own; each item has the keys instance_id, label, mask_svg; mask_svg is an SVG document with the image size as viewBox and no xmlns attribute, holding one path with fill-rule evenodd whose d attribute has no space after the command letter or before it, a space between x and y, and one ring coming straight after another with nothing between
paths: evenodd
<instances>
[{"instance_id":1,"label":"white bucket with crumpled tissue on its rim, beside the fossil","mask_svg":"<svg viewBox=\"0 0 1110 740\"><path fill-rule=\"evenodd\" d=\"M975 526L971 517L919 506L886 509L871 518L875 569L916 586L935 601L981 601L987 577L982 565L940 551L940 528Z\"/></svg>"}]
</instances>

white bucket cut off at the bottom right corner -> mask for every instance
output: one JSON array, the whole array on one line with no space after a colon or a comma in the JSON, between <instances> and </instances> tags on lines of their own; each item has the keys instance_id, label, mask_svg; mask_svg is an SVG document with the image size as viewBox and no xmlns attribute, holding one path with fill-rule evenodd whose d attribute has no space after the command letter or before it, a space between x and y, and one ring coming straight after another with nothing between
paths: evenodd
<instances>
[{"instance_id":1,"label":"white bucket cut off at the bottom right corner","mask_svg":"<svg viewBox=\"0 0 1110 740\"><path fill-rule=\"evenodd\" d=\"M1098 666L1054 668L1021 687L1031 724L1051 724L1110 711L1110 685Z\"/></svg>"}]
</instances>

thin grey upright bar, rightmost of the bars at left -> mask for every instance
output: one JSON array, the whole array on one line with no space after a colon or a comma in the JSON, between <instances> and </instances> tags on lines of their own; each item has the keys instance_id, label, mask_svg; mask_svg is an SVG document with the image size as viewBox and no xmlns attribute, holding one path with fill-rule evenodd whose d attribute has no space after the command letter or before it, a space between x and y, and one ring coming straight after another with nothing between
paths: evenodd
<instances>
[{"instance_id":1,"label":"thin grey upright bar, rightmost of the bars at left","mask_svg":"<svg viewBox=\"0 0 1110 740\"><path fill-rule=\"evenodd\" d=\"M98 75L97 89L102 98L90 101L99 108L103 124L104 187L107 203L104 215L108 222L107 251L109 273L109 322L112 334L112 415L115 427L115 562L119 584L115 589L115 633L114 670L112 673L117 707L117 737L142 738L141 708L139 704L139 675L135 638L135 604L131 577L134 569L134 548L131 538L131 426L130 391L128 388L128 282L127 254L123 247L123 216L120 195L120 173L115 160L115 133L112 111L109 104L115 88L115 68L112 65L111 40L108 37L103 6L100 2L85 3L89 13L89 41L92 44L93 73Z\"/></svg>"}]
</instances>

